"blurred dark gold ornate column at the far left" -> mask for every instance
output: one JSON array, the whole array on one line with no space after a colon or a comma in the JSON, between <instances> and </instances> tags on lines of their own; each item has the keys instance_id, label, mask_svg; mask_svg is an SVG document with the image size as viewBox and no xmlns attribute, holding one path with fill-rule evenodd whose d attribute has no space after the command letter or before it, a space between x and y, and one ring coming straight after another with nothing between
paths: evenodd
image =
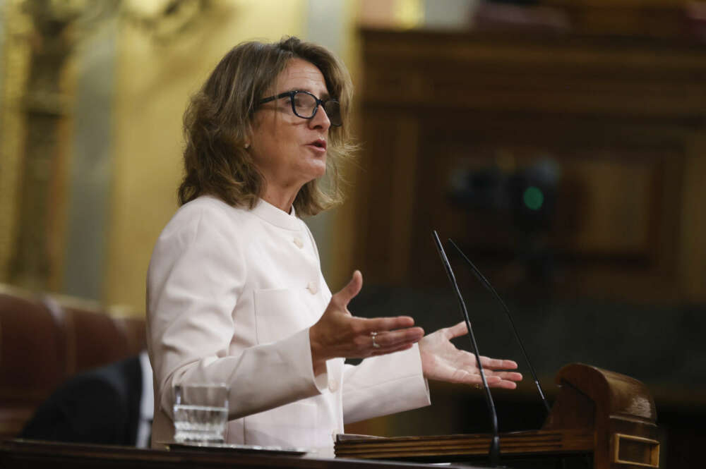
<instances>
[{"instance_id":1,"label":"blurred dark gold ornate column at the far left","mask_svg":"<svg viewBox=\"0 0 706 469\"><path fill-rule=\"evenodd\" d=\"M26 15L32 28L24 35L29 45L25 92L15 103L15 117L23 121L24 132L20 134L22 151L16 153L14 197L8 199L16 204L8 279L25 288L44 290L57 269L54 260L59 252L53 246L61 245L57 227L64 219L59 212L66 179L61 133L69 101L61 83L71 54L71 23L80 9L40 0L13 2L13 6L13 14Z\"/></svg>"}]
</instances>

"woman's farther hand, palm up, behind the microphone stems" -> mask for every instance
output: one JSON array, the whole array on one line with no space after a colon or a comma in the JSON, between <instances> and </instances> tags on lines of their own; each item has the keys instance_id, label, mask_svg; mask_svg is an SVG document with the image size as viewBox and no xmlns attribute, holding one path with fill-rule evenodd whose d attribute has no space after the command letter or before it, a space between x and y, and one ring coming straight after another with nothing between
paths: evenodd
<instances>
[{"instance_id":1,"label":"woman's farther hand, palm up, behind the microphone stems","mask_svg":"<svg viewBox=\"0 0 706 469\"><path fill-rule=\"evenodd\" d=\"M476 363L476 355L457 349L450 339L467 334L465 322L453 327L439 329L419 341L421 369L424 377L436 381L462 384L482 384ZM513 360L498 360L481 356L481 365L488 386L515 389L515 382L522 379L522 374L505 370L515 370ZM497 370L497 371L496 371Z\"/></svg>"}]
</instances>

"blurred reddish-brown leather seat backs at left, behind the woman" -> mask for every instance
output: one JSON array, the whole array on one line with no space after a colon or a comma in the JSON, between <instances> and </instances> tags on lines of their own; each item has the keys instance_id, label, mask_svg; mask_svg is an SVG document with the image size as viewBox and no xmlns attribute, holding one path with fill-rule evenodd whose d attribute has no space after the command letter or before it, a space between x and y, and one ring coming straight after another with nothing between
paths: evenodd
<instances>
[{"instance_id":1,"label":"blurred reddish-brown leather seat backs at left, behind the woman","mask_svg":"<svg viewBox=\"0 0 706 469\"><path fill-rule=\"evenodd\" d=\"M0 286L0 439L16 436L68 377L144 348L143 318Z\"/></svg>"}]
</instances>

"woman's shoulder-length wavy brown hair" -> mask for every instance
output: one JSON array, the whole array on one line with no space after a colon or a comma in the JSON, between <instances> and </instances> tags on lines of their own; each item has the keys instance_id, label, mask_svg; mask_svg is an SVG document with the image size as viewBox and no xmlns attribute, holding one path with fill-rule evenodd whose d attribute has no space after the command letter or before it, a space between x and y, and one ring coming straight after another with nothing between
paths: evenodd
<instances>
[{"instance_id":1,"label":"woman's shoulder-length wavy brown hair","mask_svg":"<svg viewBox=\"0 0 706 469\"><path fill-rule=\"evenodd\" d=\"M340 164L352 158L349 133L353 85L335 56L297 37L280 42L244 42L221 59L184 113L184 179L179 205L200 195L213 195L234 207L252 209L265 190L265 178L255 166L245 142L257 102L292 59L309 61L323 74L332 97L341 104L343 125L328 131L328 183L306 183L294 199L301 215L315 215L342 200Z\"/></svg>"}]
</instances>

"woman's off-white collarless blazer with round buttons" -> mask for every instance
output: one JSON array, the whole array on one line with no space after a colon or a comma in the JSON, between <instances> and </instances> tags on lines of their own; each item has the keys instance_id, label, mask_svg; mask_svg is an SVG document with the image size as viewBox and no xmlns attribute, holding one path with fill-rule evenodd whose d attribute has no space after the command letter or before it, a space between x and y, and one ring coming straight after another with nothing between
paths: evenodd
<instances>
[{"instance_id":1,"label":"woman's off-white collarless blazer with round buttons","mask_svg":"<svg viewBox=\"0 0 706 469\"><path fill-rule=\"evenodd\" d=\"M321 456L333 455L345 422L429 405L417 346L358 366L329 360L313 375L309 327L331 293L311 232L293 212L204 196L162 231L147 284L152 446L172 440L172 386L186 382L229 384L229 443Z\"/></svg>"}]
</instances>

